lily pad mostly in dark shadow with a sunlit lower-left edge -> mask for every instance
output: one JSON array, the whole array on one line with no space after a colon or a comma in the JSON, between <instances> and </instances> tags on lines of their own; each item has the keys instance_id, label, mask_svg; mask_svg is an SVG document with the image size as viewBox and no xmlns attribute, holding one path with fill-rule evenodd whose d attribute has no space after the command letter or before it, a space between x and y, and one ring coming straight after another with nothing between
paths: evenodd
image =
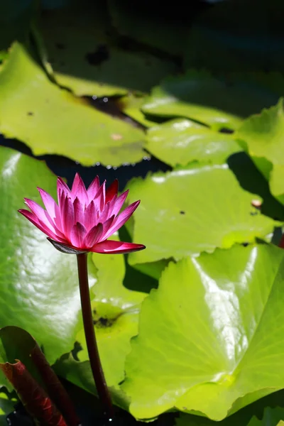
<instances>
[{"instance_id":1,"label":"lily pad mostly in dark shadow with a sunlit lower-left edge","mask_svg":"<svg viewBox=\"0 0 284 426\"><path fill-rule=\"evenodd\" d=\"M154 87L142 111L162 117L185 117L216 129L236 129L242 119L277 99L263 87L217 80L209 72L191 70Z\"/></svg>"}]
</instances>

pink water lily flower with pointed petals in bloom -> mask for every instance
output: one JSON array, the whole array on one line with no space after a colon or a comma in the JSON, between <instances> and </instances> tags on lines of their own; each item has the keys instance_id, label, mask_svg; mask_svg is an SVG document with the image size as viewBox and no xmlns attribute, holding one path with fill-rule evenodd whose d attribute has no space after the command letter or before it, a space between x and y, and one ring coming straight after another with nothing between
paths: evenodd
<instances>
[{"instance_id":1,"label":"pink water lily flower with pointed petals in bloom","mask_svg":"<svg viewBox=\"0 0 284 426\"><path fill-rule=\"evenodd\" d=\"M142 244L108 240L131 217L140 200L133 202L119 214L129 191L118 197L117 180L107 191L105 185L106 182L99 185L97 176L86 190L77 173L70 190L58 178L58 204L48 192L38 188L45 209L25 198L31 211L18 211L43 231L57 249L65 253L129 253L145 249Z\"/></svg>"}]
</instances>

